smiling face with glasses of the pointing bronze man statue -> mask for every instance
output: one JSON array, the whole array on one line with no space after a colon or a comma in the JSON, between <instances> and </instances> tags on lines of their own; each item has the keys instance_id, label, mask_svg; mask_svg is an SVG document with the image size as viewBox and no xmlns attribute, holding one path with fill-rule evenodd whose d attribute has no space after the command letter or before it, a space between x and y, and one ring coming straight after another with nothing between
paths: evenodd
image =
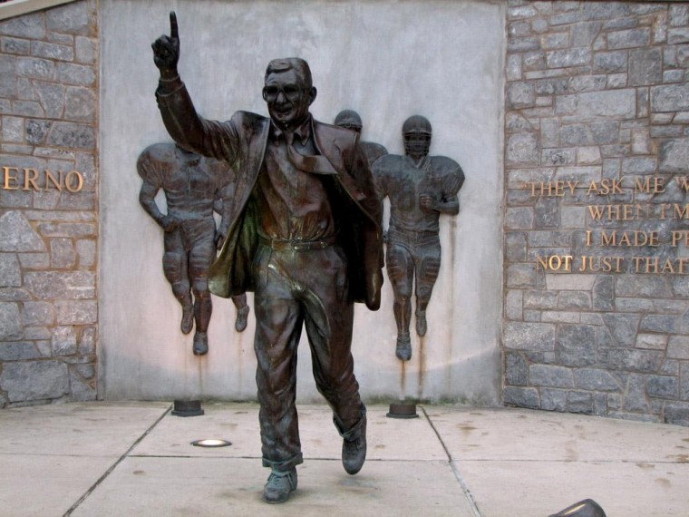
<instances>
[{"instance_id":1,"label":"smiling face with glasses of the pointing bronze man statue","mask_svg":"<svg viewBox=\"0 0 689 517\"><path fill-rule=\"evenodd\" d=\"M267 76L263 99L277 127L291 131L306 121L308 108L315 100L315 88L309 88L301 74L291 68Z\"/></svg>"}]
</instances>

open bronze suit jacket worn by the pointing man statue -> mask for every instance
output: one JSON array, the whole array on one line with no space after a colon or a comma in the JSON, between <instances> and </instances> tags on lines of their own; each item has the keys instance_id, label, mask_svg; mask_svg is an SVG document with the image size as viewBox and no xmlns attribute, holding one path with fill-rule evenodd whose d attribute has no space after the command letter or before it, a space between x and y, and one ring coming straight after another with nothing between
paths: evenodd
<instances>
[{"instance_id":1,"label":"open bronze suit jacket worn by the pointing man statue","mask_svg":"<svg viewBox=\"0 0 689 517\"><path fill-rule=\"evenodd\" d=\"M263 165L270 119L236 112L228 122L197 114L180 80L156 93L162 120L181 147L224 160L235 171L236 189L229 210L229 229L219 257L209 271L209 288L228 298L254 290L251 267L258 247L257 214L251 201ZM383 205L355 132L313 122L316 150L332 165L325 189L339 229L338 242L347 255L350 294L367 307L380 307L383 286ZM334 172L334 173L333 173Z\"/></svg>"}]
</instances>

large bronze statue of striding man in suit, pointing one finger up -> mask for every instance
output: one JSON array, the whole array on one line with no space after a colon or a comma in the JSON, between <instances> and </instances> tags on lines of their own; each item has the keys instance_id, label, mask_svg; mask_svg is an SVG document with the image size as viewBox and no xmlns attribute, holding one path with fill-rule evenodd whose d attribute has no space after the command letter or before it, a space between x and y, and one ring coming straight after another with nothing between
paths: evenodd
<instances>
[{"instance_id":1,"label":"large bronze statue of striding man in suit, pointing one finger up","mask_svg":"<svg viewBox=\"0 0 689 517\"><path fill-rule=\"evenodd\" d=\"M156 97L170 136L227 161L237 174L227 239L210 272L213 293L255 293L257 387L267 502L285 502L303 462L296 415L296 346L306 325L315 384L344 438L342 461L357 473L366 454L366 414L351 353L354 302L380 307L382 203L354 132L315 121L308 64L268 63L269 118L235 112L201 118L177 71L180 37L153 43Z\"/></svg>"}]
</instances>

